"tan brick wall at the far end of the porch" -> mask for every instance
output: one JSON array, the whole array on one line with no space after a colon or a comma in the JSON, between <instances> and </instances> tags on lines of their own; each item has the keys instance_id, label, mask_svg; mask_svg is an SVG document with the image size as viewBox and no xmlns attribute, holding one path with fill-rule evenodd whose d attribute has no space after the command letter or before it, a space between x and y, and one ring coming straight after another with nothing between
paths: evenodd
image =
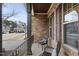
<instances>
[{"instance_id":1,"label":"tan brick wall at the far end of the porch","mask_svg":"<svg viewBox=\"0 0 79 59\"><path fill-rule=\"evenodd\" d=\"M34 34L34 42L48 36L48 19L46 15L32 16L32 34Z\"/></svg>"}]
</instances>

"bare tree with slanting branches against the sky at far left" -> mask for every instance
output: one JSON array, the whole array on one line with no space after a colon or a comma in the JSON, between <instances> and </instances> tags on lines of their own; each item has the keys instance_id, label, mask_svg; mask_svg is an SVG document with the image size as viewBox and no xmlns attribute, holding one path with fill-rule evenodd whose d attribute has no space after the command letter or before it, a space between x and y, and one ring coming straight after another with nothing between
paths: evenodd
<instances>
[{"instance_id":1,"label":"bare tree with slanting branches against the sky at far left","mask_svg":"<svg viewBox=\"0 0 79 59\"><path fill-rule=\"evenodd\" d=\"M7 5L6 4L2 4L4 8L7 8ZM16 16L18 13L13 10L12 12L10 13L5 13L5 14L2 14L2 23L5 25L5 26L8 26L10 27L10 25L12 26L10 29L14 29L14 27L16 26L16 23L15 22L12 22L12 21L8 21L9 18L13 17L13 16Z\"/></svg>"}]
</instances>

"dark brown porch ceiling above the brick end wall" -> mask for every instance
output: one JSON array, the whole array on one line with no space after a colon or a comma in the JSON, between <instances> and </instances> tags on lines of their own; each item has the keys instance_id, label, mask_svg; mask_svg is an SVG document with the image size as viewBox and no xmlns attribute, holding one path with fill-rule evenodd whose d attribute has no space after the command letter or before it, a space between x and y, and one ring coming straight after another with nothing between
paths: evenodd
<instances>
[{"instance_id":1,"label":"dark brown porch ceiling above the brick end wall","mask_svg":"<svg viewBox=\"0 0 79 59\"><path fill-rule=\"evenodd\" d=\"M34 13L47 13L51 6L51 3L34 3Z\"/></svg>"}]
</instances>

